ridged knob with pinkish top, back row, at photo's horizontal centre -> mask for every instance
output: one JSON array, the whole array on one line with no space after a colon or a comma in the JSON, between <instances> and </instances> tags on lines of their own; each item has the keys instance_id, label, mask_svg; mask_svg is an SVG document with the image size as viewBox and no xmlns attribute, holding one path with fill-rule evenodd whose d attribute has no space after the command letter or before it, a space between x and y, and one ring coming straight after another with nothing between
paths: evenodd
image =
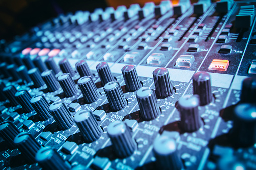
<instances>
[{"instance_id":1,"label":"ridged knob with pinkish top, back row, at photo's horizontal centre","mask_svg":"<svg viewBox=\"0 0 256 170\"><path fill-rule=\"evenodd\" d=\"M132 64L122 68L126 88L129 92L137 91L142 87L135 66Z\"/></svg>"}]
</instances>

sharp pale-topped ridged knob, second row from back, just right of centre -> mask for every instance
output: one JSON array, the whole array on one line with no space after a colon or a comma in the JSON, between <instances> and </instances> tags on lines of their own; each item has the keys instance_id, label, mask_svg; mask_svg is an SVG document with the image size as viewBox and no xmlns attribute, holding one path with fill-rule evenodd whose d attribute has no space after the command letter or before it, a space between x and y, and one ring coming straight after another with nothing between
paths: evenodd
<instances>
[{"instance_id":1,"label":"sharp pale-topped ridged knob, second row from back, just right of centre","mask_svg":"<svg viewBox=\"0 0 256 170\"><path fill-rule=\"evenodd\" d=\"M153 120L161 114L154 90L140 88L137 91L137 100L140 108L140 117L143 120Z\"/></svg>"}]
</instances>

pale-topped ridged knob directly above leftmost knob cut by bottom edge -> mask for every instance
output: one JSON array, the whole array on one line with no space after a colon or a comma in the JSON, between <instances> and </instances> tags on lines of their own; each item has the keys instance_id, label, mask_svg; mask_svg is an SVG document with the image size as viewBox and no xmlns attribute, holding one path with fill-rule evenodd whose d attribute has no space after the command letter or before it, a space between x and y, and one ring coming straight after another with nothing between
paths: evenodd
<instances>
[{"instance_id":1,"label":"pale-topped ridged knob directly above leftmost knob cut by bottom edge","mask_svg":"<svg viewBox=\"0 0 256 170\"><path fill-rule=\"evenodd\" d=\"M74 119L69 112L65 103L54 102L49 107L50 113L56 123L59 125L60 130L67 130L74 125Z\"/></svg>"}]
</instances>

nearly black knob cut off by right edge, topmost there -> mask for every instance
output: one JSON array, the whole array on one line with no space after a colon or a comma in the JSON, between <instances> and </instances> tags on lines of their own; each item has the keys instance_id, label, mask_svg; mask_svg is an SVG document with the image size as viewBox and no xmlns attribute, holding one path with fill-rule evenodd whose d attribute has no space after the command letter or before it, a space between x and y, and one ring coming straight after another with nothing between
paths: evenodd
<instances>
[{"instance_id":1,"label":"nearly black knob cut off by right edge, topmost there","mask_svg":"<svg viewBox=\"0 0 256 170\"><path fill-rule=\"evenodd\" d=\"M256 103L256 77L248 77L243 80L241 103Z\"/></svg>"}]
</instances>

